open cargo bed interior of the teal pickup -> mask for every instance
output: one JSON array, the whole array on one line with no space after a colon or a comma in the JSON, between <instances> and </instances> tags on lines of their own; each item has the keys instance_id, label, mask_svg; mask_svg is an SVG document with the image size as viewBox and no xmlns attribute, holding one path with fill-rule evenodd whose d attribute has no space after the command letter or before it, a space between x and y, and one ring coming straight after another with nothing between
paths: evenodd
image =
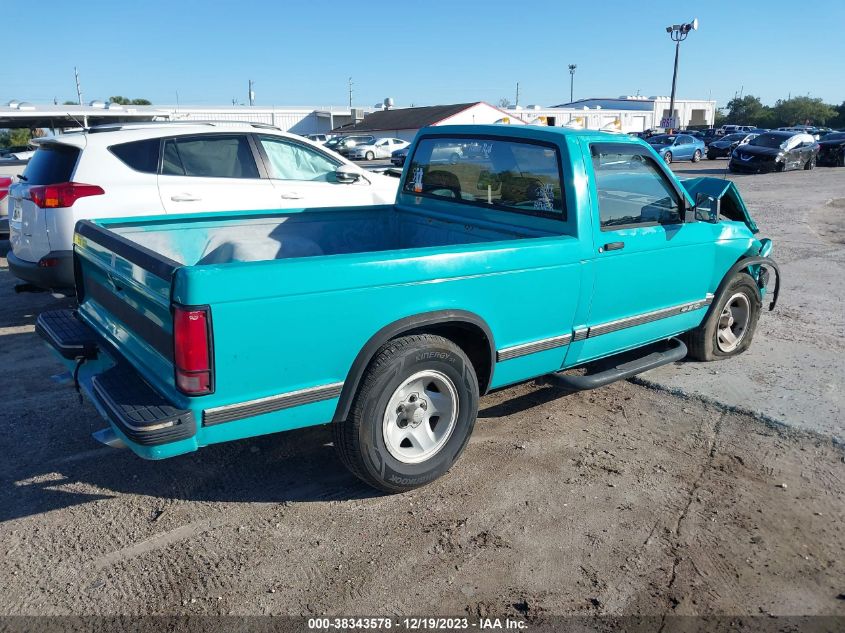
<instances>
[{"instance_id":1,"label":"open cargo bed interior of the teal pickup","mask_svg":"<svg viewBox=\"0 0 845 633\"><path fill-rule=\"evenodd\" d=\"M492 242L550 233L394 206L231 215L110 227L183 265L224 264Z\"/></svg>"}]
</instances>

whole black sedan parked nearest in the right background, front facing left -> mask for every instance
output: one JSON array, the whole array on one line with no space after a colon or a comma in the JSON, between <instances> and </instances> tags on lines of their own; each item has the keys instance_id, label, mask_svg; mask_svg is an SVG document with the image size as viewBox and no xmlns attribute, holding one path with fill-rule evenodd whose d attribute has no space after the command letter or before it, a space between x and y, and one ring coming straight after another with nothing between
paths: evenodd
<instances>
[{"instance_id":1,"label":"whole black sedan parked nearest in the right background, front facing left","mask_svg":"<svg viewBox=\"0 0 845 633\"><path fill-rule=\"evenodd\" d=\"M751 173L813 169L818 153L819 144L809 134L766 132L735 149L728 168L734 172Z\"/></svg>"}]
</instances>

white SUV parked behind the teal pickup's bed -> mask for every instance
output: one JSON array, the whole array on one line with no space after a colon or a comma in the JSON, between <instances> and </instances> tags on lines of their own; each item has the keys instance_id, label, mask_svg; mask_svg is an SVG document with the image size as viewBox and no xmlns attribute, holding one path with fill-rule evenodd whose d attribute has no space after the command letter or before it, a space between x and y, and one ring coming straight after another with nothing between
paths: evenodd
<instances>
[{"instance_id":1,"label":"white SUV parked behind the teal pickup's bed","mask_svg":"<svg viewBox=\"0 0 845 633\"><path fill-rule=\"evenodd\" d=\"M9 191L12 273L73 285L78 220L392 204L399 181L262 124L132 123L40 138Z\"/></svg>"}]
</instances>

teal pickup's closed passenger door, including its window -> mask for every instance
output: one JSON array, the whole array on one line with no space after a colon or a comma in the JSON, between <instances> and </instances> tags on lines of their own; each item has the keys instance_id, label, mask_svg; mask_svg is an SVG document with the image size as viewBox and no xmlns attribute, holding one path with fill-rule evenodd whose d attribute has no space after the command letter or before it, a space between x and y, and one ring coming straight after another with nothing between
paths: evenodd
<instances>
[{"instance_id":1,"label":"teal pickup's closed passenger door, including its window","mask_svg":"<svg viewBox=\"0 0 845 633\"><path fill-rule=\"evenodd\" d=\"M667 168L634 143L594 143L594 288L587 327L567 365L696 326L709 305L718 225L684 223L686 198Z\"/></svg>"}]
</instances>

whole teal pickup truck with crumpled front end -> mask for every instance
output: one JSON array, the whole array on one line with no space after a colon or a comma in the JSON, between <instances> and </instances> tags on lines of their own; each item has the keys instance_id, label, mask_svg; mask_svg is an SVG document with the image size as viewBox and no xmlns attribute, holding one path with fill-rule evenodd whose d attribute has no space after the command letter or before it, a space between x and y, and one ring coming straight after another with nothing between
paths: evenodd
<instances>
[{"instance_id":1,"label":"whole teal pickup truck with crumpled front end","mask_svg":"<svg viewBox=\"0 0 845 633\"><path fill-rule=\"evenodd\" d=\"M437 127L392 206L79 222L79 307L37 331L107 443L161 459L330 424L397 492L452 466L490 390L745 351L780 277L756 233L730 181L680 182L638 139Z\"/></svg>"}]
</instances>

